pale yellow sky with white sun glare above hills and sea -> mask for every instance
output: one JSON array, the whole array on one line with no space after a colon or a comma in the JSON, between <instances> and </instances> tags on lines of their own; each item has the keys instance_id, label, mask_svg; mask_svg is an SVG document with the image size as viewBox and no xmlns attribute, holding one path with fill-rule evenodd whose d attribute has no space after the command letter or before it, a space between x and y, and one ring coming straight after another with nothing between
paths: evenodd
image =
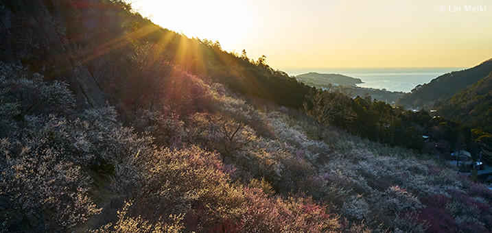
<instances>
[{"instance_id":1,"label":"pale yellow sky with white sun glare above hills and sea","mask_svg":"<svg viewBox=\"0 0 492 233\"><path fill-rule=\"evenodd\" d=\"M471 67L492 58L492 1L128 0L154 23L274 69ZM465 6L485 12L467 12ZM461 12L458 12L461 8ZM480 8L478 8L480 9Z\"/></svg>"}]
</instances>

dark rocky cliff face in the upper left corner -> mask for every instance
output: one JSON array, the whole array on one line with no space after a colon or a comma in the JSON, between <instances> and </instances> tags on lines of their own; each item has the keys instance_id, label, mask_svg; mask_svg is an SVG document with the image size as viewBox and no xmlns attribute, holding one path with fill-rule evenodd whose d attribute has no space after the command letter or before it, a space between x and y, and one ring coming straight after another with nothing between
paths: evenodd
<instances>
[{"instance_id":1,"label":"dark rocky cliff face in the upper left corner","mask_svg":"<svg viewBox=\"0 0 492 233\"><path fill-rule=\"evenodd\" d=\"M66 2L40 0L0 3L0 61L65 80L82 106L102 106L106 96L77 56L63 19ZM83 29L83 28L82 28Z\"/></svg>"}]
</instances>

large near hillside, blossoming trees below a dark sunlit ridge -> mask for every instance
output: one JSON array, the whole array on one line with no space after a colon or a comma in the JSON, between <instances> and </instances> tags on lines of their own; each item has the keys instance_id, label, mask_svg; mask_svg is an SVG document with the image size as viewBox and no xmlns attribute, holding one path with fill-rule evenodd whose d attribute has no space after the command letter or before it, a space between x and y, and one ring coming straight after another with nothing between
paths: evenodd
<instances>
[{"instance_id":1,"label":"large near hillside, blossoming trees below a dark sunlit ridge","mask_svg":"<svg viewBox=\"0 0 492 233\"><path fill-rule=\"evenodd\" d=\"M438 158L473 147L458 123L305 86L123 1L0 13L0 232L492 229L492 192Z\"/></svg>"}]
</instances>

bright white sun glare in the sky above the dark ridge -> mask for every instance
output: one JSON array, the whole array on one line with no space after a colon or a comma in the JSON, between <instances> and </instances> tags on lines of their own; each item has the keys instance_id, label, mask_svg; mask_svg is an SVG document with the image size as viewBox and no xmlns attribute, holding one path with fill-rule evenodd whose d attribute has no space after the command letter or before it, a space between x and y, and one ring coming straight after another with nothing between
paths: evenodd
<instances>
[{"instance_id":1,"label":"bright white sun glare in the sky above the dark ridge","mask_svg":"<svg viewBox=\"0 0 492 233\"><path fill-rule=\"evenodd\" d=\"M235 47L248 34L250 8L237 0L133 0L132 8L161 27Z\"/></svg>"}]
</instances>

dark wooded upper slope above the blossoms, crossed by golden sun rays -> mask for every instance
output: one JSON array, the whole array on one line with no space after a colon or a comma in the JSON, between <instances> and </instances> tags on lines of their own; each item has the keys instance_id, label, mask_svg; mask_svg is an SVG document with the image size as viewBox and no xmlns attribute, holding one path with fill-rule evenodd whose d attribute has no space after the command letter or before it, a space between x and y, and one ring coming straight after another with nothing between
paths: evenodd
<instances>
[{"instance_id":1,"label":"dark wooded upper slope above the blossoms, crossed by golden sun rays","mask_svg":"<svg viewBox=\"0 0 492 233\"><path fill-rule=\"evenodd\" d=\"M131 118L156 74L170 66L293 108L312 89L274 71L264 57L255 62L222 51L218 42L162 29L123 1L6 0L0 15L0 62L67 81L84 108L109 101ZM139 88L128 90L134 84Z\"/></svg>"}]
</instances>

